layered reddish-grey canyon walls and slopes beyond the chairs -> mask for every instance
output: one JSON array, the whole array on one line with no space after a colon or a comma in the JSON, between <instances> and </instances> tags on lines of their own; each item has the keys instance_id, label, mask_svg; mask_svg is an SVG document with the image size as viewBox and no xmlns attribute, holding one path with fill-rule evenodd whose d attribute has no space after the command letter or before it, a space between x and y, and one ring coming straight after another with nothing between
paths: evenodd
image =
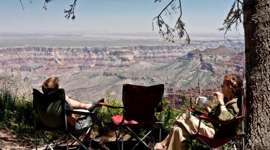
<instances>
[{"instance_id":1,"label":"layered reddish-grey canyon walls and slopes beyond the chairs","mask_svg":"<svg viewBox=\"0 0 270 150\"><path fill-rule=\"evenodd\" d=\"M198 86L215 89L224 74L244 72L245 56L222 42L188 46L45 47L0 49L0 73L18 68L24 82L41 91L42 83L59 76L66 93L82 102L122 99L123 84L164 84L165 93Z\"/></svg>"}]
</instances>

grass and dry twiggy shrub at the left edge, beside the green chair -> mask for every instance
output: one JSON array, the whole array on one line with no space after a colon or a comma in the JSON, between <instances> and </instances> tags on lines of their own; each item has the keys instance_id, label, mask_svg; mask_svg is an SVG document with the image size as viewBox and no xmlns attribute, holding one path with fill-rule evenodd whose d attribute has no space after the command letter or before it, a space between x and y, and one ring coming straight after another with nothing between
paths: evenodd
<instances>
[{"instance_id":1,"label":"grass and dry twiggy shrub at the left edge, beside the green chair","mask_svg":"<svg viewBox=\"0 0 270 150\"><path fill-rule=\"evenodd\" d=\"M20 91L25 87L13 81L8 72L0 76L0 83L0 121L33 125L33 103L29 101L29 90Z\"/></svg>"}]
</instances>

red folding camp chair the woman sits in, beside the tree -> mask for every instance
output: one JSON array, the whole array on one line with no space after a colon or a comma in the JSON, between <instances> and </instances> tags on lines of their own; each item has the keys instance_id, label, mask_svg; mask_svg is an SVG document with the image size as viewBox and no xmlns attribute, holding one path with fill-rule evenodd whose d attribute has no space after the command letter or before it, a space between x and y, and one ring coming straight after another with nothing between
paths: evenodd
<instances>
[{"instance_id":1,"label":"red folding camp chair the woman sits in, beside the tree","mask_svg":"<svg viewBox=\"0 0 270 150\"><path fill-rule=\"evenodd\" d=\"M204 144L205 146L207 146L208 148L212 149L212 148L217 148L220 147L228 142L231 142L231 144L225 149L232 149L232 145L234 145L234 149L235 148L235 142L241 138L239 145L238 145L238 149L242 146L242 149L245 149L245 145L244 145L244 112L245 112L245 95L244 95L244 89L242 88L241 90L242 92L242 101L241 101L241 108L239 108L239 114L235 119L232 120L228 120L228 121L221 121L218 119L212 119L212 118L208 118L207 114L204 114L202 112L196 111L195 109L192 108L188 108L189 111L194 113L194 116L198 116L198 118L200 119L199 122L199 126L198 126L198 132L195 133L193 136L191 136L191 139L195 139L195 146L194 146L194 150L196 149L196 145L197 145L197 141L199 141L201 144ZM238 105L239 107L239 105ZM240 113L241 112L241 113ZM214 138L208 138L206 136L200 135L199 134L199 130L200 130L200 123L201 120L207 120L211 123L215 123L215 124L220 124L220 128L218 129L217 133L215 133ZM239 125L242 122L242 132L237 133L237 128L239 127ZM227 135L227 136L224 136ZM242 142L242 145L241 145ZM212 149L213 150L213 149Z\"/></svg>"}]
</instances>

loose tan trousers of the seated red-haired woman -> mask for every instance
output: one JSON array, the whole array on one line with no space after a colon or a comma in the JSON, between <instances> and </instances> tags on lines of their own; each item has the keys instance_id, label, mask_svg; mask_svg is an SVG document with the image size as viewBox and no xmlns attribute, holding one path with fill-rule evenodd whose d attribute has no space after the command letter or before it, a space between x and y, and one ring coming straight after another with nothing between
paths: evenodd
<instances>
[{"instance_id":1,"label":"loose tan trousers of the seated red-haired woman","mask_svg":"<svg viewBox=\"0 0 270 150\"><path fill-rule=\"evenodd\" d=\"M198 132L199 119L189 114L180 114L171 126L173 135L168 150L184 150L187 140ZM201 122L200 134L213 138L215 130Z\"/></svg>"}]
</instances>

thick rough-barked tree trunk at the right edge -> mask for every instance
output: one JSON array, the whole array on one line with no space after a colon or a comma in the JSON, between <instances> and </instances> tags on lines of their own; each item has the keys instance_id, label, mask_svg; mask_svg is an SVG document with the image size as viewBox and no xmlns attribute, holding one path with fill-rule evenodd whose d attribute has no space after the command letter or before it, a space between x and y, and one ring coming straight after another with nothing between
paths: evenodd
<instances>
[{"instance_id":1,"label":"thick rough-barked tree trunk at the right edge","mask_svg":"<svg viewBox=\"0 0 270 150\"><path fill-rule=\"evenodd\" d=\"M270 149L270 0L244 0L246 149ZM268 140L268 141L267 141Z\"/></svg>"}]
</instances>

